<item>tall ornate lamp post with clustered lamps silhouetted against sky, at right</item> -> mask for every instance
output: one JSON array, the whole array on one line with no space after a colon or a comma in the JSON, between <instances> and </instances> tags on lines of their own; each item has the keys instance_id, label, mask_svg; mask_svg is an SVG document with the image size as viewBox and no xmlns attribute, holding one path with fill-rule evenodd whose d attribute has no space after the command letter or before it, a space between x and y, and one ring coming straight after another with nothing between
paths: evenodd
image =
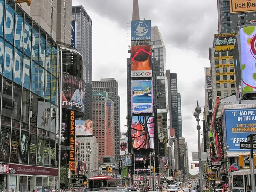
<instances>
[{"instance_id":1,"label":"tall ornate lamp post with clustered lamps silhouetted against sky, at right","mask_svg":"<svg viewBox=\"0 0 256 192\"><path fill-rule=\"evenodd\" d=\"M196 102L197 106L195 108L194 116L197 121L196 129L198 130L198 159L199 159L199 175L200 175L200 183L199 183L199 189L200 192L203 192L203 173L202 173L202 160L201 160L201 144L200 144L200 125L199 125L199 115L201 113L201 107L198 105L198 101Z\"/></svg>"}]
</instances>

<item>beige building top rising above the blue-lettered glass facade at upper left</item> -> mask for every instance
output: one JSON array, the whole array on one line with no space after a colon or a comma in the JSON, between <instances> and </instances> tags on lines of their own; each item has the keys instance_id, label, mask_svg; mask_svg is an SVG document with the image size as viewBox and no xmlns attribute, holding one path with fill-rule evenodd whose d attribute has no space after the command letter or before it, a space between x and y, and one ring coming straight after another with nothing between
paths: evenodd
<instances>
[{"instance_id":1,"label":"beige building top rising above the blue-lettered glass facade at upper left","mask_svg":"<svg viewBox=\"0 0 256 192\"><path fill-rule=\"evenodd\" d=\"M31 1L24 9L54 41L71 44L71 6L72 0Z\"/></svg>"}]
</instances>

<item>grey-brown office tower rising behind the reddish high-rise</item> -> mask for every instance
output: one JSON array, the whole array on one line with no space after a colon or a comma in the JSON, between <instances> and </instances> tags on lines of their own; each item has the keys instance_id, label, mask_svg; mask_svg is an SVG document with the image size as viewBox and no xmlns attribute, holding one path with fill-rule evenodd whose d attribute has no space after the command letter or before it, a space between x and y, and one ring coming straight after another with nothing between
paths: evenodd
<instances>
[{"instance_id":1,"label":"grey-brown office tower rising behind the reddish high-rise","mask_svg":"<svg viewBox=\"0 0 256 192\"><path fill-rule=\"evenodd\" d=\"M108 99L114 102L114 128L115 128L115 158L119 160L120 134L120 97L118 95L118 82L115 78L103 78L100 81L92 81L93 92L108 92Z\"/></svg>"}]
</instances>

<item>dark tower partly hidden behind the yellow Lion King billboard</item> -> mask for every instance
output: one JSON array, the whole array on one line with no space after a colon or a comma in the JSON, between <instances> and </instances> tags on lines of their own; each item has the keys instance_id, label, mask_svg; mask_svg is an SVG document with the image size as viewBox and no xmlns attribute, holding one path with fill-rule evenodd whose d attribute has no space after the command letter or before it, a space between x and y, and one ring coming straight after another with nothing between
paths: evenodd
<instances>
[{"instance_id":1,"label":"dark tower partly hidden behind the yellow Lion King billboard","mask_svg":"<svg viewBox=\"0 0 256 192\"><path fill-rule=\"evenodd\" d=\"M256 19L256 12L230 13L230 6L230 0L217 0L218 33L238 32L241 26L238 23L247 23Z\"/></svg>"}]
</instances>

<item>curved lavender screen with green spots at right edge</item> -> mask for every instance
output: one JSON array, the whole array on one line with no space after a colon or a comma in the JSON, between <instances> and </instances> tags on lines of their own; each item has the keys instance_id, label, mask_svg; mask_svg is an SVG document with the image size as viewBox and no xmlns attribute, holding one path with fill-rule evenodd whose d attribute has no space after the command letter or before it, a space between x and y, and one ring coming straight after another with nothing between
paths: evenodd
<instances>
[{"instance_id":1,"label":"curved lavender screen with green spots at right edge","mask_svg":"<svg viewBox=\"0 0 256 192\"><path fill-rule=\"evenodd\" d=\"M256 90L256 26L241 26L237 40L242 93L252 93Z\"/></svg>"}]
</instances>

